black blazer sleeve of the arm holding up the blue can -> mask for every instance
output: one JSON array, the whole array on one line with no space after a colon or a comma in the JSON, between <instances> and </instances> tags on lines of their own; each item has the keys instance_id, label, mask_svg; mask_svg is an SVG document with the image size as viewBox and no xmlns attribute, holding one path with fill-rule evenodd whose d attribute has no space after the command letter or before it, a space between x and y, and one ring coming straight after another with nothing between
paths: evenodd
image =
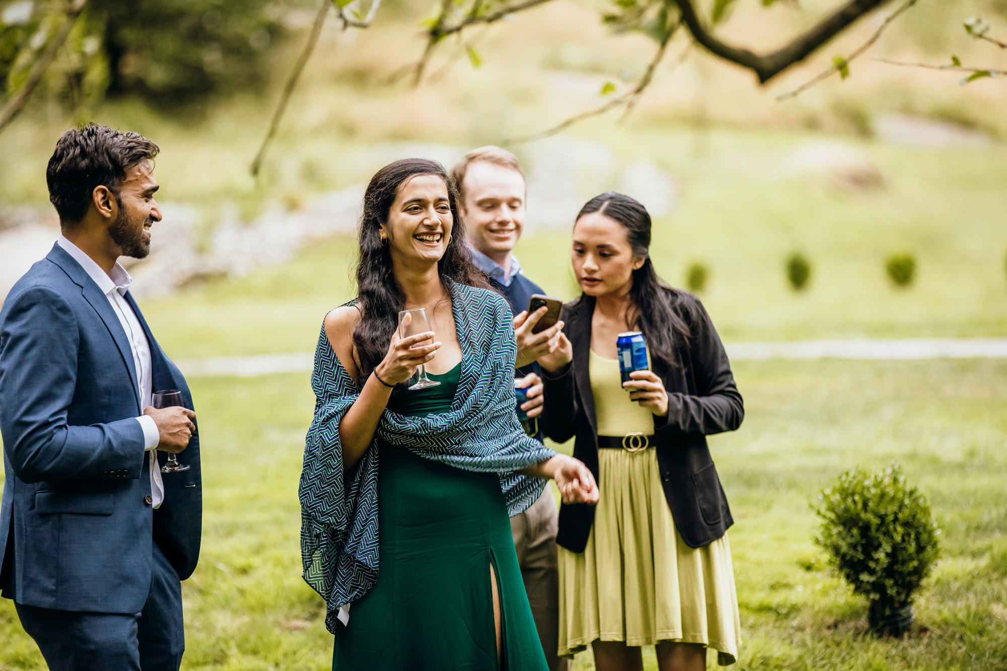
<instances>
[{"instance_id":1,"label":"black blazer sleeve of the arm holding up the blue can","mask_svg":"<svg viewBox=\"0 0 1007 671\"><path fill-rule=\"evenodd\" d=\"M668 419L661 430L703 435L733 431L741 426L745 409L727 353L703 305L696 299L689 302L684 311L692 331L688 356L697 394L669 392Z\"/></svg>"}]
</instances>

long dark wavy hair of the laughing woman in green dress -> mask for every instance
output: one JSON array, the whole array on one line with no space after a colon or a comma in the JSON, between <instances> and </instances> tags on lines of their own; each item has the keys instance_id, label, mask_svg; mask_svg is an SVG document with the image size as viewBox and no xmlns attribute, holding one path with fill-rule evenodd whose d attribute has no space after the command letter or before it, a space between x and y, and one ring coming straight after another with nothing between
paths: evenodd
<instances>
[{"instance_id":1,"label":"long dark wavy hair of the laughing woman in green dress","mask_svg":"<svg viewBox=\"0 0 1007 671\"><path fill-rule=\"evenodd\" d=\"M364 214L359 225L356 306L361 310L361 321L353 329L358 383L367 380L385 359L392 333L399 325L399 310L405 308L406 301L405 293L392 272L392 254L389 247L382 245L378 229L388 223L389 212L403 184L425 174L437 175L444 180L451 208L451 240L437 264L444 290L450 295L452 281L488 288L485 275L472 265L465 243L465 227L458 216L457 191L444 166L425 158L404 158L378 170L364 193Z\"/></svg>"}]
</instances>

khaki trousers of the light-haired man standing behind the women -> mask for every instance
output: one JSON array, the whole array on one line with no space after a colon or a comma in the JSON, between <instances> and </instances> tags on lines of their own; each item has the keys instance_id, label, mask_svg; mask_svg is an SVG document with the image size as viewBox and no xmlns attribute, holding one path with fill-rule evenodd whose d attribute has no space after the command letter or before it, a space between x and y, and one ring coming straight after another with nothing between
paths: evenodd
<instances>
[{"instance_id":1,"label":"khaki trousers of the light-haired man standing behind the women","mask_svg":"<svg viewBox=\"0 0 1007 671\"><path fill-rule=\"evenodd\" d=\"M556 499L552 489L547 487L531 508L511 518L511 532L546 662L551 671L569 671L570 662L556 656L560 617L556 559L559 518Z\"/></svg>"}]
</instances>

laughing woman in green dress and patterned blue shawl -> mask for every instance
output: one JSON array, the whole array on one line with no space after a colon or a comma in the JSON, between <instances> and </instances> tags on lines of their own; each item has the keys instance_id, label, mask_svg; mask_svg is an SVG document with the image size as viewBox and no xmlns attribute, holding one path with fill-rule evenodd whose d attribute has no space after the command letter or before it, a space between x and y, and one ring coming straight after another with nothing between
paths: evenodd
<instances>
[{"instance_id":1,"label":"laughing woman in green dress and patterned blue shawl","mask_svg":"<svg viewBox=\"0 0 1007 671\"><path fill-rule=\"evenodd\" d=\"M518 423L510 309L464 240L440 163L379 170L364 197L357 298L328 313L319 338L301 552L327 603L336 671L545 671L509 511L547 478L565 501L597 501L583 463ZM432 330L401 338L399 311L421 307ZM408 389L421 365L438 385Z\"/></svg>"}]
</instances>

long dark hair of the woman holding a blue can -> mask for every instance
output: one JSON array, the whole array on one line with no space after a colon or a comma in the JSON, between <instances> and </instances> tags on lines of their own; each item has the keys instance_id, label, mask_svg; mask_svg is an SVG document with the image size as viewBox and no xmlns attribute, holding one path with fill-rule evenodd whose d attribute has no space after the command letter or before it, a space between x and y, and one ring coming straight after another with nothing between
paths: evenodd
<instances>
[{"instance_id":1,"label":"long dark hair of the woman holding a blue can","mask_svg":"<svg viewBox=\"0 0 1007 671\"><path fill-rule=\"evenodd\" d=\"M580 209L577 221L584 215L601 213L618 222L626 230L626 239L634 256L643 258L643 265L632 271L632 288L629 298L632 304L626 313L626 321L636 323L646 339L651 358L666 366L679 365L676 339L681 344L689 342L689 326L672 309L678 299L679 290L661 281L651 261L651 215L638 200L623 193L606 191L596 195ZM576 226L576 224L575 224ZM581 295L583 300L583 295Z\"/></svg>"}]
</instances>

